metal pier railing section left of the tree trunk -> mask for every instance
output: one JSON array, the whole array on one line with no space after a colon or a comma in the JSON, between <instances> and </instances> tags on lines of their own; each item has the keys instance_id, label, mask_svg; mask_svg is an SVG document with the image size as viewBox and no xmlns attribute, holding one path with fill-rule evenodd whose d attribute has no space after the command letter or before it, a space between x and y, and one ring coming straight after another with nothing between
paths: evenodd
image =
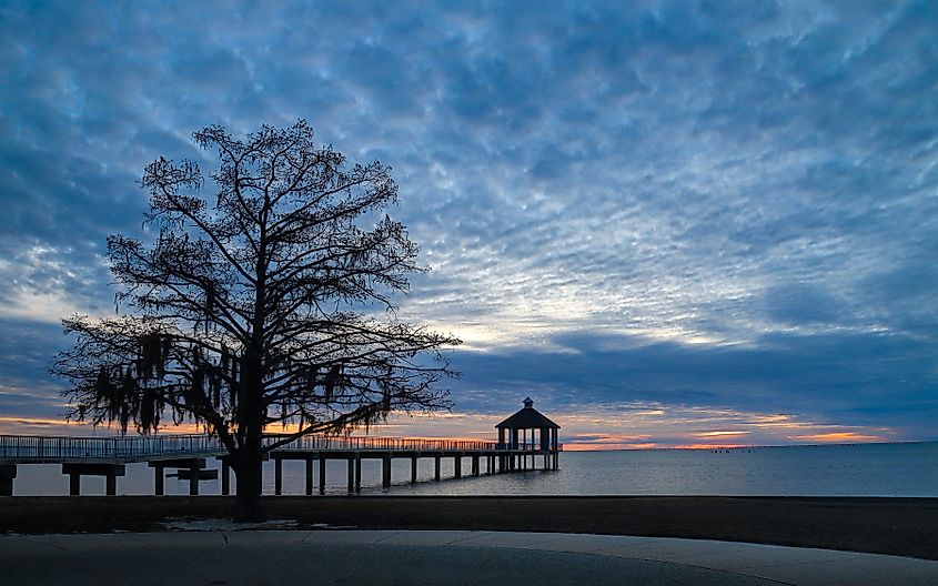
<instances>
[{"instance_id":1,"label":"metal pier railing section left of the tree trunk","mask_svg":"<svg viewBox=\"0 0 938 586\"><path fill-rule=\"evenodd\" d=\"M202 434L114 437L0 435L0 459L20 462L144 461L154 457L212 456L224 452Z\"/></svg>"}]
</instances>

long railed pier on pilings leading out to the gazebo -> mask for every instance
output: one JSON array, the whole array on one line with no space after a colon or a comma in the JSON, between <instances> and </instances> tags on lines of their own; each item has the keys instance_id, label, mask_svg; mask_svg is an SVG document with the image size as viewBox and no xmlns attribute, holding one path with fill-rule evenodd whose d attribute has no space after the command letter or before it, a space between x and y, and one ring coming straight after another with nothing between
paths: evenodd
<instances>
[{"instance_id":1,"label":"long railed pier on pilings leading out to the gazebo","mask_svg":"<svg viewBox=\"0 0 938 586\"><path fill-rule=\"evenodd\" d=\"M268 435L273 443L282 435ZM549 442L525 442L513 436L512 442L461 440L422 440L400 437L351 437L311 435L282 445L270 453L274 461L274 494L282 492L284 459L306 463L306 494L313 493L313 463L319 462L319 492L325 492L327 459L347 462L349 493L361 491L362 459L382 461L382 486L391 486L391 461L411 459L411 482L416 482L417 459L433 457L434 479L441 481L441 458L452 457L454 475L462 476L462 459L471 458L471 474L482 474L485 458L486 474L533 469L537 456L543 456L543 469L557 469L558 452L563 446ZM204 476L205 458L222 462L222 494L230 493L228 451L218 437L204 434L114 437L50 437L0 435L0 496L13 494L18 464L61 464L69 475L69 494L79 495L81 476L104 476L107 494L117 494L117 478L125 475L125 464L147 462L154 468L154 493L163 494L165 468L186 471L190 494L199 494L199 479Z\"/></svg>"}]
</instances>

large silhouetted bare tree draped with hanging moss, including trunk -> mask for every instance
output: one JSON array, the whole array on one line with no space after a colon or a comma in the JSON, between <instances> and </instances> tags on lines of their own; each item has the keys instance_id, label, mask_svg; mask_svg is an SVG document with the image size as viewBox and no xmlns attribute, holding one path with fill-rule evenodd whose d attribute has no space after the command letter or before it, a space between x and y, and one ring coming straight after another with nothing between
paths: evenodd
<instances>
[{"instance_id":1,"label":"large silhouetted bare tree draped with hanging moss, including trunk","mask_svg":"<svg viewBox=\"0 0 938 586\"><path fill-rule=\"evenodd\" d=\"M265 452L448 407L434 383L454 373L438 351L460 341L396 317L390 295L425 269L383 213L397 196L389 168L347 168L305 121L194 140L219 153L211 203L194 162L147 165L152 242L108 239L127 311L63 320L78 339L50 370L71 383L69 418L148 433L171 415L216 434L238 477L235 517L258 519ZM286 435L265 442L278 423Z\"/></svg>"}]
</instances>

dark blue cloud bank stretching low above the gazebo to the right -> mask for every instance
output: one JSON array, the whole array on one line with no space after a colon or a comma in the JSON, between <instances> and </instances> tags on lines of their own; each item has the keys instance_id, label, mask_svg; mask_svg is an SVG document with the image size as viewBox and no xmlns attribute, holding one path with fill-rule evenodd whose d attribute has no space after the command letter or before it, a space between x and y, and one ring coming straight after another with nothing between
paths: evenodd
<instances>
[{"instance_id":1,"label":"dark blue cloud bank stretching low above the gazebo to the right","mask_svg":"<svg viewBox=\"0 0 938 586\"><path fill-rule=\"evenodd\" d=\"M562 350L457 353L460 406L498 413L531 394L562 413L613 415L636 404L664 405L934 433L936 355L914 337L786 334L714 346L581 332L556 336L554 344ZM727 430L726 423L717 430Z\"/></svg>"}]
</instances>

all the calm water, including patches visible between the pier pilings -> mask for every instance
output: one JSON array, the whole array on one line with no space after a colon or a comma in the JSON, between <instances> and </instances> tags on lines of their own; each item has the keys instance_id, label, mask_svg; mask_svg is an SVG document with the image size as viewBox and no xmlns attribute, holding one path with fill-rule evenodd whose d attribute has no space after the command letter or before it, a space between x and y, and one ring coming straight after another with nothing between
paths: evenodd
<instances>
[{"instance_id":1,"label":"all the calm water, including patches visible between the pier pilings","mask_svg":"<svg viewBox=\"0 0 938 586\"><path fill-rule=\"evenodd\" d=\"M433 458L422 458L420 481L433 478ZM219 467L209 461L210 467ZM485 458L482 458L485 471ZM319 464L314 466L319 485ZM453 458L443 459L444 482L409 484L410 459L395 459L394 485L381 488L381 461L362 461L362 493L392 495L725 495L725 496L930 496L938 497L938 442L626 452L566 452L561 471L471 477L453 476ZM303 462L284 461L283 494L303 494ZM329 461L326 492L345 494L344 461ZM68 477L59 465L20 465L16 495L65 495ZM232 475L232 488L234 477ZM103 495L104 478L82 477L82 494ZM167 494L189 494L189 481L167 478ZM201 494L221 494L220 481L200 483ZM128 464L118 493L153 494L153 471ZM273 494L273 463L265 463L264 493Z\"/></svg>"}]
</instances>

